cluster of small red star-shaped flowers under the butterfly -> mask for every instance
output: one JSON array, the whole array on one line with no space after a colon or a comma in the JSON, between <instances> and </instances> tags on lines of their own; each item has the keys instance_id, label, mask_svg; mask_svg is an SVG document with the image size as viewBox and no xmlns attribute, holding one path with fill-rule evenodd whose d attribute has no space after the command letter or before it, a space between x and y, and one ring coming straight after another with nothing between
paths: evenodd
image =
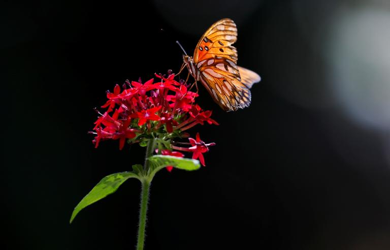
<instances>
[{"instance_id":1,"label":"cluster of small red star-shaped flowers under the butterfly","mask_svg":"<svg viewBox=\"0 0 390 250\"><path fill-rule=\"evenodd\" d=\"M210 118L211 111L203 110L195 103L198 93L188 90L183 82L177 82L175 74L157 75L154 79L142 83L129 82L122 89L117 84L114 91L107 91L108 101L102 106L107 110L99 113L94 122L93 143L95 147L103 140L119 140L122 149L125 141L146 146L150 139L156 143L156 153L184 157L183 152L192 152L192 159L199 159L205 166L203 153L215 143L204 143L199 136L188 138L185 131L197 124L218 123ZM189 142L175 142L174 138L188 138ZM188 145L177 146L177 145ZM169 171L172 168L167 168Z\"/></svg>"}]
</instances>

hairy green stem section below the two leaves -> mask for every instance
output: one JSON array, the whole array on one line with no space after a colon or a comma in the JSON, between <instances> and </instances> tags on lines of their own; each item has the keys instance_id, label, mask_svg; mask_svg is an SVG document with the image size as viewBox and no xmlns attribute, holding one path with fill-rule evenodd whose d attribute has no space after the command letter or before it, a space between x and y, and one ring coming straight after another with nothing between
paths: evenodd
<instances>
[{"instance_id":1,"label":"hairy green stem section below the two leaves","mask_svg":"<svg viewBox=\"0 0 390 250\"><path fill-rule=\"evenodd\" d=\"M149 180L144 179L142 181L142 191L141 191L140 224L138 228L137 250L144 249L146 212L148 211L149 188L150 188Z\"/></svg>"}]
</instances>

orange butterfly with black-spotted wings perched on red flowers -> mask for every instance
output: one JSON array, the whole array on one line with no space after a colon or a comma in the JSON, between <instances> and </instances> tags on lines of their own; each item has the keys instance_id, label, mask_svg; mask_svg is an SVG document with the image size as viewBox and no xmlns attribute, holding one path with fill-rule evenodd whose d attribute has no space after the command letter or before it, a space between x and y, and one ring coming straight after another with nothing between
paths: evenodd
<instances>
[{"instance_id":1,"label":"orange butterfly with black-spotted wings perched on red flowers","mask_svg":"<svg viewBox=\"0 0 390 250\"><path fill-rule=\"evenodd\" d=\"M250 104L250 88L261 80L248 69L237 66L237 27L224 18L205 32L193 57L183 55L189 74L201 81L214 101L225 111L236 111ZM185 53L185 52L184 52Z\"/></svg>"}]
</instances>

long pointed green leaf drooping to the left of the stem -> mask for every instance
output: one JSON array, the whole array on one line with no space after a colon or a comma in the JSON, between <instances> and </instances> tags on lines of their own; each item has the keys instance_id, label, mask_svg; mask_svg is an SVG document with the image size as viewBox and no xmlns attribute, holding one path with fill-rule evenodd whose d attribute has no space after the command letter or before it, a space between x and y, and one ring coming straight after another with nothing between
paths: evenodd
<instances>
[{"instance_id":1,"label":"long pointed green leaf drooping to the left of the stem","mask_svg":"<svg viewBox=\"0 0 390 250\"><path fill-rule=\"evenodd\" d=\"M121 173L110 174L104 177L79 202L79 204L77 204L75 210L73 210L70 223L72 223L72 221L74 220L76 215L81 211L81 209L114 193L118 189L118 187L128 178L139 178L139 176L133 172L121 172Z\"/></svg>"}]
</instances>

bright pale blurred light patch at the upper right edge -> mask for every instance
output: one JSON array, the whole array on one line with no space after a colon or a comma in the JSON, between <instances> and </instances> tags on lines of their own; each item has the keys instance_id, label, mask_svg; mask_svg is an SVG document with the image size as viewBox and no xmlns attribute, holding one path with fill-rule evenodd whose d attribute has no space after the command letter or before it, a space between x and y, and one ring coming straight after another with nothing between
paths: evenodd
<instances>
[{"instance_id":1,"label":"bright pale blurred light patch at the upper right edge","mask_svg":"<svg viewBox=\"0 0 390 250\"><path fill-rule=\"evenodd\" d=\"M390 12L339 10L330 30L329 83L340 107L365 128L390 131Z\"/></svg>"}]
</instances>

